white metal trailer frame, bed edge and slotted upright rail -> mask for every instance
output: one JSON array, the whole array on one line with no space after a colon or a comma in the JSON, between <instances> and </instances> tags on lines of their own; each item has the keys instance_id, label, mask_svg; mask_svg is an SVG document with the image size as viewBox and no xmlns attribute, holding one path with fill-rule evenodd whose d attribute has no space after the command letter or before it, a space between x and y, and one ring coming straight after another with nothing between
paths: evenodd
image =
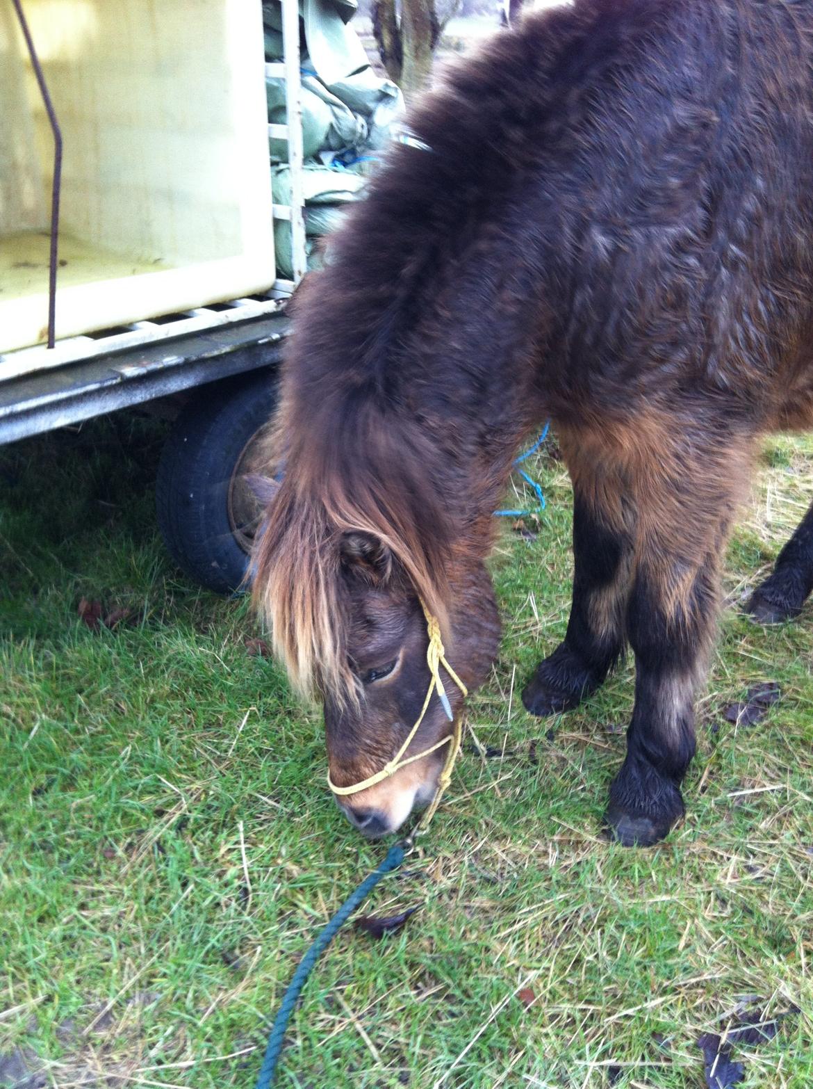
<instances>
[{"instance_id":1,"label":"white metal trailer frame, bed edge and slotted upright rail","mask_svg":"<svg viewBox=\"0 0 813 1089\"><path fill-rule=\"evenodd\" d=\"M275 204L273 215L291 223L294 279L247 298L0 354L0 444L279 364L284 303L307 268L299 7L281 3L284 61L267 63L266 76L285 81L286 124L269 125L269 135L288 142L292 205Z\"/></svg>"}]
</instances>

